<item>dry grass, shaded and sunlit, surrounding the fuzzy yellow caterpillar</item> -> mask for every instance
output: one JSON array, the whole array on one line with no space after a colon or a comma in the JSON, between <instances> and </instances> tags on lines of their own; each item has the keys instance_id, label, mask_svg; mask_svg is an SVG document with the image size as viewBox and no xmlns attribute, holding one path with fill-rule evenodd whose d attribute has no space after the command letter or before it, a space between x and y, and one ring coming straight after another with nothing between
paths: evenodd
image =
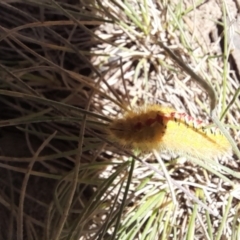
<instances>
[{"instance_id":1,"label":"dry grass, shaded and sunlit, surrounding the fuzzy yellow caterpillar","mask_svg":"<svg viewBox=\"0 0 240 240\"><path fill-rule=\"evenodd\" d=\"M210 3L218 16L202 1L0 2L1 239L239 238L239 82L229 11ZM199 24L219 18L223 50ZM152 102L211 121L213 90L231 157L132 153L106 134Z\"/></svg>"}]
</instances>

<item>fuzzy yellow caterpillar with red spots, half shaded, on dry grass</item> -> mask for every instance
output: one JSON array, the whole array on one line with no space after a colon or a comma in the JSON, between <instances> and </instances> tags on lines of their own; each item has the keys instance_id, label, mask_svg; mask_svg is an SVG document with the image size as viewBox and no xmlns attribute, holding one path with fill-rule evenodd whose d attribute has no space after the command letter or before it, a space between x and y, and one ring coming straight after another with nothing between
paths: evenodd
<instances>
[{"instance_id":1,"label":"fuzzy yellow caterpillar with red spots, half shaded, on dry grass","mask_svg":"<svg viewBox=\"0 0 240 240\"><path fill-rule=\"evenodd\" d=\"M157 104L127 111L113 119L108 132L119 144L142 151L153 149L196 158L215 158L231 151L220 131L204 126L186 113Z\"/></svg>"}]
</instances>

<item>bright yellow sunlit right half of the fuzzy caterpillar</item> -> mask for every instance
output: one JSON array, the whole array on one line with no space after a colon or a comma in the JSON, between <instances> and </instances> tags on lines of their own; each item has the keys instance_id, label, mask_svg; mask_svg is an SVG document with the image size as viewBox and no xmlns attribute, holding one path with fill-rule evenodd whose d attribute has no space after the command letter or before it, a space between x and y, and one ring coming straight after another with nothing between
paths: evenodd
<instances>
[{"instance_id":1,"label":"bright yellow sunlit right half of the fuzzy caterpillar","mask_svg":"<svg viewBox=\"0 0 240 240\"><path fill-rule=\"evenodd\" d=\"M214 158L231 150L231 145L221 133L195 128L183 122L169 121L168 130L162 139L162 147L173 152L196 157Z\"/></svg>"}]
</instances>

